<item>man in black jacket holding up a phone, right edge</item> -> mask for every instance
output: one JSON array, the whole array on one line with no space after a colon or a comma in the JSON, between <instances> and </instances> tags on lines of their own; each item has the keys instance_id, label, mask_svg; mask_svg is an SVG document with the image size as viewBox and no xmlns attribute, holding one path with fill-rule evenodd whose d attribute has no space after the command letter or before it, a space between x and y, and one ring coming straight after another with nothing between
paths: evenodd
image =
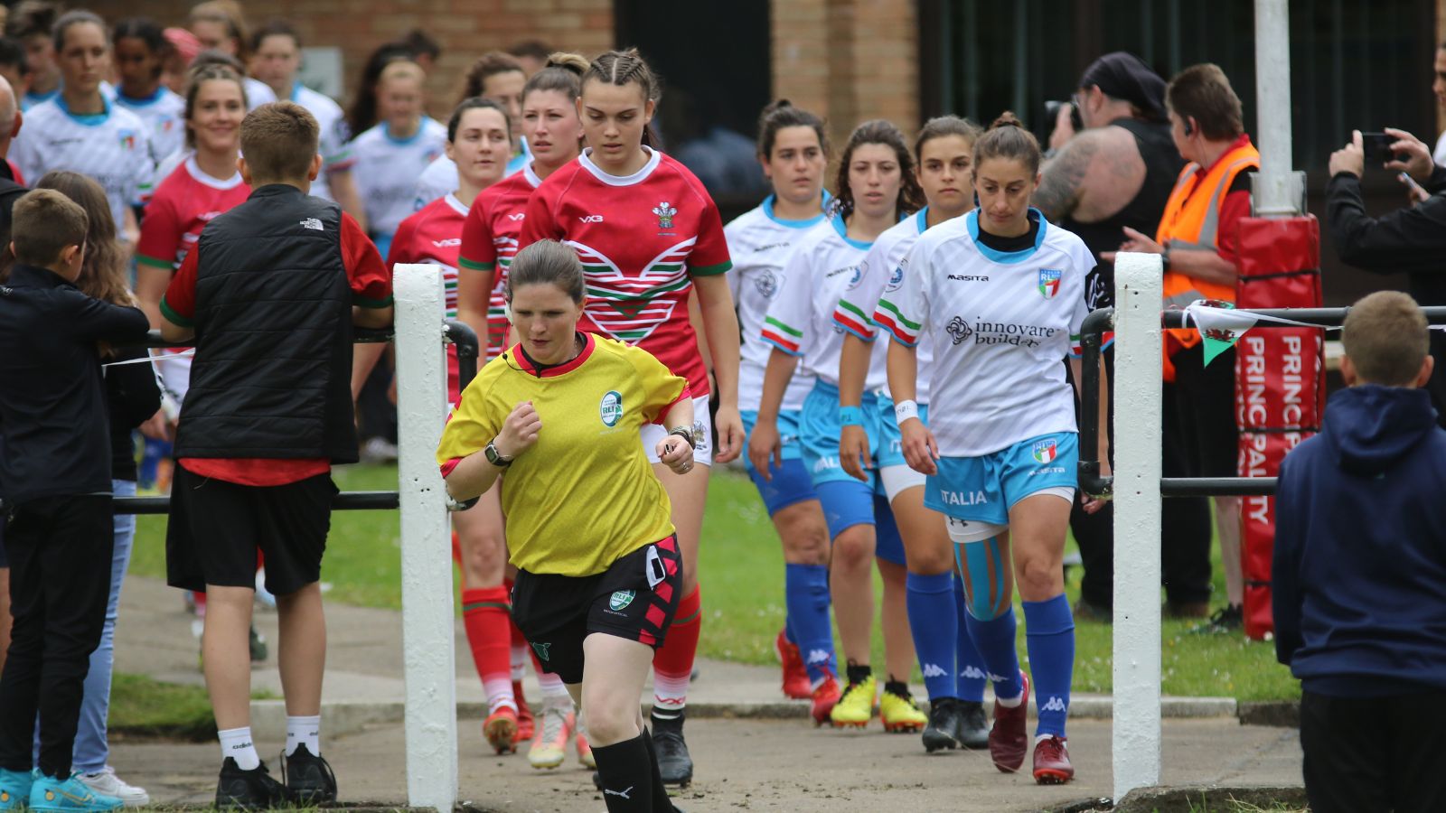
<instances>
[{"instance_id":1,"label":"man in black jacket holding up a phone, right edge","mask_svg":"<svg viewBox=\"0 0 1446 813\"><path fill-rule=\"evenodd\" d=\"M1375 163L1404 172L1429 192L1417 205L1366 217L1361 200L1361 175L1371 162L1361 130L1351 133L1351 143L1330 153L1330 184L1326 187L1326 226L1340 262L1374 273L1408 275L1407 289L1421 305L1446 305L1446 168L1432 159L1432 149L1406 130L1385 129L1395 140L1388 145L1391 161ZM1378 148L1379 149L1379 148ZM1436 370L1426 391L1436 408L1436 421L1446 427L1446 333L1432 334Z\"/></svg>"}]
</instances>

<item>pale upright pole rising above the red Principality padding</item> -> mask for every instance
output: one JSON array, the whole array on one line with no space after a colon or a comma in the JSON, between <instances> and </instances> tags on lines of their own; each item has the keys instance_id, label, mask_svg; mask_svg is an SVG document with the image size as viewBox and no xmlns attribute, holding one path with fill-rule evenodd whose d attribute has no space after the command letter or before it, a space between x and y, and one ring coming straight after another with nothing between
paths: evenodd
<instances>
[{"instance_id":1,"label":"pale upright pole rising above the red Principality padding","mask_svg":"<svg viewBox=\"0 0 1446 813\"><path fill-rule=\"evenodd\" d=\"M1300 175L1290 156L1290 9L1285 0L1255 0L1255 120L1261 171L1255 178L1255 213L1261 217L1300 214Z\"/></svg>"}]
</instances>

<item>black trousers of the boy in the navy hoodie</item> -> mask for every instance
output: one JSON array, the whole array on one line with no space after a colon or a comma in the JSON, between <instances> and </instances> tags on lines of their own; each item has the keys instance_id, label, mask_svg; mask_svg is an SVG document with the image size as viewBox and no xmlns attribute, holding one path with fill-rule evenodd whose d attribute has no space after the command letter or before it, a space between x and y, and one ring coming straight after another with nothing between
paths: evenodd
<instances>
[{"instance_id":1,"label":"black trousers of the boy in the navy hoodie","mask_svg":"<svg viewBox=\"0 0 1446 813\"><path fill-rule=\"evenodd\" d=\"M1314 813L1446 810L1446 693L1300 697L1306 797Z\"/></svg>"}]
</instances>

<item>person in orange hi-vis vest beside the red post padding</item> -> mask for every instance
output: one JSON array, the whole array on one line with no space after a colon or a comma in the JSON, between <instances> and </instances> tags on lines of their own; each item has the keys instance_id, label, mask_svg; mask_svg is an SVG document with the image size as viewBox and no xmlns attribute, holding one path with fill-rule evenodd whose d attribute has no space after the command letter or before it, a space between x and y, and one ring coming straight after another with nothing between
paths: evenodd
<instances>
[{"instance_id":1,"label":"person in orange hi-vis vest beside the red post padding","mask_svg":"<svg viewBox=\"0 0 1446 813\"><path fill-rule=\"evenodd\" d=\"M1251 213L1246 172L1259 169L1259 152L1245 135L1241 98L1219 67L1192 65L1180 71L1165 88L1165 103L1176 146L1190 163L1176 181L1155 237L1125 229L1129 240L1121 250L1161 255L1165 307L1184 307L1196 299L1233 302L1239 273L1235 231L1239 218ZM1167 331L1165 476L1235 476L1235 350L1222 353L1209 366L1203 360L1194 330ZM1245 595L1239 498L1216 498L1215 516L1229 603L1213 616L1209 629L1231 631L1242 623ZM1171 587L1165 610L1199 616L1209 612L1210 528L1209 522L1190 525L1199 527L1171 528L1178 538L1164 548L1164 579ZM1176 597L1181 590L1199 595L1200 602L1181 602Z\"/></svg>"}]
</instances>

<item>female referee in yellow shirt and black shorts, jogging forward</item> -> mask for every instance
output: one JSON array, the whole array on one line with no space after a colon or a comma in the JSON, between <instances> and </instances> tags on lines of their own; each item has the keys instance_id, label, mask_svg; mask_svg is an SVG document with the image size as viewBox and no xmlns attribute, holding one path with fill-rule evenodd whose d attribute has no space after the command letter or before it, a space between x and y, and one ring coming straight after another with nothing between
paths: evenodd
<instances>
[{"instance_id":1,"label":"female referee in yellow shirt and black shorts, jogging forward","mask_svg":"<svg viewBox=\"0 0 1446 813\"><path fill-rule=\"evenodd\" d=\"M571 247L518 252L508 302L519 341L467 386L437 460L458 501L506 470L513 618L587 710L607 810L672 810L638 694L678 609L683 553L638 431L661 427L654 454L687 473L693 398L648 352L580 331L584 299Z\"/></svg>"}]
</instances>

